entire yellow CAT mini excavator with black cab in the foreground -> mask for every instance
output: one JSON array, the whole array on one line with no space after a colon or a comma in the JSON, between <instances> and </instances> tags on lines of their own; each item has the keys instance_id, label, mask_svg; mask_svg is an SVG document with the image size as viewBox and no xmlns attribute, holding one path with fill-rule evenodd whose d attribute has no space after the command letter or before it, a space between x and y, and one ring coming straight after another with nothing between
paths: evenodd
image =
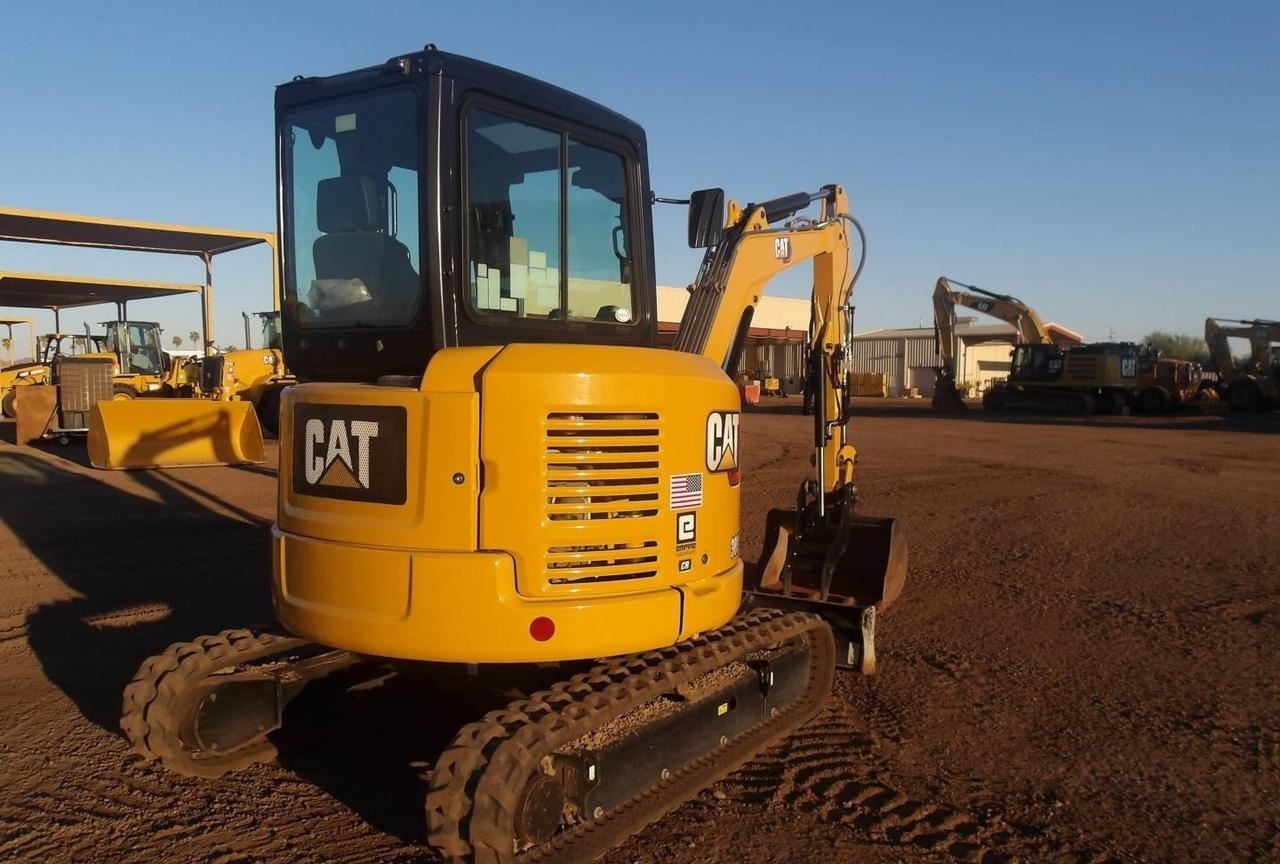
<instances>
[{"instance_id":1,"label":"entire yellow CAT mini excavator with black cab in the foreground","mask_svg":"<svg viewBox=\"0 0 1280 864\"><path fill-rule=\"evenodd\" d=\"M861 228L842 188L727 212L694 193L705 253L658 348L662 200L631 120L434 46L296 78L275 105L300 381L271 531L284 632L142 663L122 718L137 753L196 776L270 759L283 705L339 668L488 677L520 695L435 760L431 845L581 861L814 716L837 666L873 669L906 547L855 515ZM727 370L765 283L803 261L814 472L745 576Z\"/></svg>"}]
</instances>

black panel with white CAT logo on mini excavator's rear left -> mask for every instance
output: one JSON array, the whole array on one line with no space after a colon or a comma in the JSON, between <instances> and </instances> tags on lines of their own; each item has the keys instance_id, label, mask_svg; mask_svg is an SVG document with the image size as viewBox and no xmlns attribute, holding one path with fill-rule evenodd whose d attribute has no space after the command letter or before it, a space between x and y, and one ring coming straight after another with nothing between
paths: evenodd
<instances>
[{"instance_id":1,"label":"black panel with white CAT logo on mini excavator's rear left","mask_svg":"<svg viewBox=\"0 0 1280 864\"><path fill-rule=\"evenodd\" d=\"M404 408L300 404L293 419L293 490L404 503Z\"/></svg>"}]
</instances>

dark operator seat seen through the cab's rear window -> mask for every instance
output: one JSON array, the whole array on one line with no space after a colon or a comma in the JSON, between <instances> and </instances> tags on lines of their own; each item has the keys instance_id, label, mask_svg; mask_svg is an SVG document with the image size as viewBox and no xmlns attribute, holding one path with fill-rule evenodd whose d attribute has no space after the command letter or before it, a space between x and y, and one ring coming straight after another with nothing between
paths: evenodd
<instances>
[{"instance_id":1,"label":"dark operator seat seen through the cab's rear window","mask_svg":"<svg viewBox=\"0 0 1280 864\"><path fill-rule=\"evenodd\" d=\"M421 282L410 264L408 247L383 228L385 187L385 180L370 174L320 180L316 227L324 233L312 243L311 255L317 280L360 279L369 289L370 311L407 323L404 319L417 306ZM365 305L360 306L358 315L366 315Z\"/></svg>"}]
</instances>

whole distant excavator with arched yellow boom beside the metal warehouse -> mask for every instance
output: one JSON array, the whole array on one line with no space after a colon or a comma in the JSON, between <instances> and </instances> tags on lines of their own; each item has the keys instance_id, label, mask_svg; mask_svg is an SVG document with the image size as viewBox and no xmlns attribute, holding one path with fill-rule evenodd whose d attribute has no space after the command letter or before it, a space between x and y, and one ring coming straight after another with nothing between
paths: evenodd
<instances>
[{"instance_id":1,"label":"whole distant excavator with arched yellow boom beside the metal warehouse","mask_svg":"<svg viewBox=\"0 0 1280 864\"><path fill-rule=\"evenodd\" d=\"M936 411L968 408L956 387L956 358L960 353L957 306L998 317L1016 329L1009 378L983 393L984 408L1120 413L1130 406L1142 346L1133 342L1056 344L1036 310L1016 297L940 276L933 288L938 351L933 389Z\"/></svg>"}]
</instances>

